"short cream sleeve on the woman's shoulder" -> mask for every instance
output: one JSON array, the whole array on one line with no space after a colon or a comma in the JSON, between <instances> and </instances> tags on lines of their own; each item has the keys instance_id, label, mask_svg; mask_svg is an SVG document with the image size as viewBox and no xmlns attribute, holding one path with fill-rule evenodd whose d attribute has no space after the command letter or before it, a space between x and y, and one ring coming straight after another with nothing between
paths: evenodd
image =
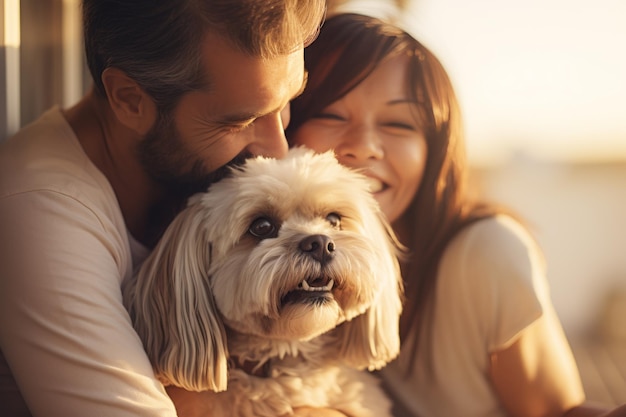
<instances>
[{"instance_id":1,"label":"short cream sleeve on the woman's shoulder","mask_svg":"<svg viewBox=\"0 0 626 417\"><path fill-rule=\"evenodd\" d=\"M481 221L463 239L464 300L488 352L504 349L549 303L541 252L510 217Z\"/></svg>"}]
</instances>

